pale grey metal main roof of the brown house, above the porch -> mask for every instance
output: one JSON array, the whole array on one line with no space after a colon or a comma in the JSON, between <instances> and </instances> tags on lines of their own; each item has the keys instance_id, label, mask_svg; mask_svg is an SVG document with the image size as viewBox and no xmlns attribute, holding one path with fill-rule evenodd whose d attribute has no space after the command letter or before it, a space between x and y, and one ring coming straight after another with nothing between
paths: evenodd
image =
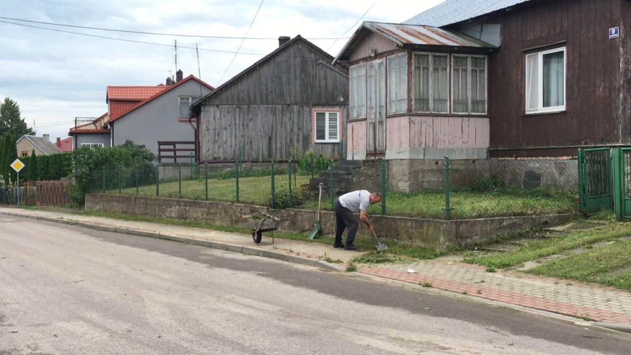
<instances>
[{"instance_id":1,"label":"pale grey metal main roof of the brown house, above the porch","mask_svg":"<svg viewBox=\"0 0 631 355\"><path fill-rule=\"evenodd\" d=\"M447 0L404 21L408 25L443 27L530 0Z\"/></svg>"}]
</instances>

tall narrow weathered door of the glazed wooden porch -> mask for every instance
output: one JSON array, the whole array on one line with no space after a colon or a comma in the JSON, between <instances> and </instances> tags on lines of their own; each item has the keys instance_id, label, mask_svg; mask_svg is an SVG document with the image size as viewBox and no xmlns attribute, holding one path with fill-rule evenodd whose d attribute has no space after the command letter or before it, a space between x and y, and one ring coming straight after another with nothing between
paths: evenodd
<instances>
[{"instance_id":1,"label":"tall narrow weathered door of the glazed wooden porch","mask_svg":"<svg viewBox=\"0 0 631 355\"><path fill-rule=\"evenodd\" d=\"M386 59L367 63L367 153L386 152Z\"/></svg>"}]
</instances>

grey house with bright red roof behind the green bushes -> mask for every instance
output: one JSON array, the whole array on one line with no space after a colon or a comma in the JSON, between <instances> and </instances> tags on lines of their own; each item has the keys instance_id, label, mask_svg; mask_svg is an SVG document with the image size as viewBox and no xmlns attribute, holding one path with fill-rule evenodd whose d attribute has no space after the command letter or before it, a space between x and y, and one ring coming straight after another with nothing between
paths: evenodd
<instances>
[{"instance_id":1,"label":"grey house with bright red roof behind the green bushes","mask_svg":"<svg viewBox=\"0 0 631 355\"><path fill-rule=\"evenodd\" d=\"M196 141L197 123L191 119L192 102L214 88L195 76L183 77L178 70L176 80L167 85L108 86L107 113L86 121L78 121L69 135L74 148L111 147L127 140L145 145L158 155L158 141Z\"/></svg>"}]
</instances>

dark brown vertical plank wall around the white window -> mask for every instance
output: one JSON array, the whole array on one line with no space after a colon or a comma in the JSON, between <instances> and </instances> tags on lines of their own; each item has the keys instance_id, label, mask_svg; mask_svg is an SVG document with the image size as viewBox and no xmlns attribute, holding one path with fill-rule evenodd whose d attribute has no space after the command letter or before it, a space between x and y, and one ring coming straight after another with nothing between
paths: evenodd
<instances>
[{"instance_id":1,"label":"dark brown vertical plank wall around the white window","mask_svg":"<svg viewBox=\"0 0 631 355\"><path fill-rule=\"evenodd\" d=\"M622 13L630 7L624 0L533 0L478 19L502 25L502 44L488 65L491 156L493 149L520 156L520 148L631 143L628 114L620 112ZM609 39L615 26L620 38ZM567 111L525 115L524 49L554 43L532 51L567 47Z\"/></svg>"}]
</instances>

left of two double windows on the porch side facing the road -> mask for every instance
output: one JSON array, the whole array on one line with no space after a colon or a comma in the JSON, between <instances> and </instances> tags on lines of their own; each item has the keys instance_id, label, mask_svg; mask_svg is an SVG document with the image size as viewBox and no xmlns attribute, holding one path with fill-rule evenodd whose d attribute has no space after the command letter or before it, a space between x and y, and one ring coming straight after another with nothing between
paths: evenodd
<instances>
[{"instance_id":1,"label":"left of two double windows on the porch side facing the road","mask_svg":"<svg viewBox=\"0 0 631 355\"><path fill-rule=\"evenodd\" d=\"M449 56L413 55L413 107L415 112L449 112Z\"/></svg>"}]
</instances>

